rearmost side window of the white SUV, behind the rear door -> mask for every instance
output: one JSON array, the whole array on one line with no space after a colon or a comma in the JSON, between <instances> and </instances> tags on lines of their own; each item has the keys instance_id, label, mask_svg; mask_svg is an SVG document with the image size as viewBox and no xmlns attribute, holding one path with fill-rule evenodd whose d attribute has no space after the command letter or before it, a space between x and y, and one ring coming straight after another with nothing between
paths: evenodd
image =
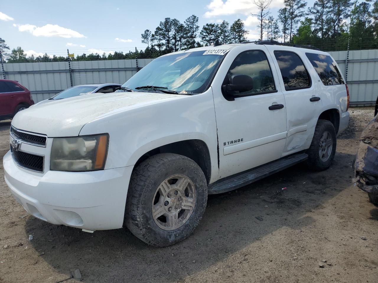
<instances>
[{"instance_id":1,"label":"rearmost side window of the white SUV, behind the rear door","mask_svg":"<svg viewBox=\"0 0 378 283\"><path fill-rule=\"evenodd\" d=\"M325 86L344 85L340 71L331 56L315 53L306 53L306 56Z\"/></svg>"}]
</instances>

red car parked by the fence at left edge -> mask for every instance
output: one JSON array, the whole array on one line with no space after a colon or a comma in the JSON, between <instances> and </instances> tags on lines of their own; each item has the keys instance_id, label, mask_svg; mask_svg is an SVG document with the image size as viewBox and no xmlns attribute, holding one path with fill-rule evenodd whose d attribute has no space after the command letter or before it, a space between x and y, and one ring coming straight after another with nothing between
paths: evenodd
<instances>
[{"instance_id":1,"label":"red car parked by the fence at left edge","mask_svg":"<svg viewBox=\"0 0 378 283\"><path fill-rule=\"evenodd\" d=\"M17 81L0 80L0 120L11 119L33 105L30 91Z\"/></svg>"}]
</instances>

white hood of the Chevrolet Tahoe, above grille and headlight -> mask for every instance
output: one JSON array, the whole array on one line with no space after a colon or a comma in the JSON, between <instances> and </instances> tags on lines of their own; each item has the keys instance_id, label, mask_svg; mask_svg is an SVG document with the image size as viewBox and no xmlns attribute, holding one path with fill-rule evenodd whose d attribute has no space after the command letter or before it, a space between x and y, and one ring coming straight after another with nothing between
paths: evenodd
<instances>
[{"instance_id":1,"label":"white hood of the Chevrolet Tahoe, above grille and headlight","mask_svg":"<svg viewBox=\"0 0 378 283\"><path fill-rule=\"evenodd\" d=\"M12 126L48 137L77 136L86 123L97 118L182 97L159 92L113 92L53 100L18 112Z\"/></svg>"}]
</instances>

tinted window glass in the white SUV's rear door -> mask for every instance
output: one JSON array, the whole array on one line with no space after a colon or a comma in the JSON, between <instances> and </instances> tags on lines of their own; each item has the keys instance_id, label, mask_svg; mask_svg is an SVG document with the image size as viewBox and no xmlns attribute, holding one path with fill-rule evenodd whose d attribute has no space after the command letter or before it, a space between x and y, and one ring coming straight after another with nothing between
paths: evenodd
<instances>
[{"instance_id":1,"label":"tinted window glass in the white SUV's rear door","mask_svg":"<svg viewBox=\"0 0 378 283\"><path fill-rule=\"evenodd\" d=\"M274 51L280 67L285 89L293 90L310 86L310 78L299 56L293 52Z\"/></svg>"}]
</instances>

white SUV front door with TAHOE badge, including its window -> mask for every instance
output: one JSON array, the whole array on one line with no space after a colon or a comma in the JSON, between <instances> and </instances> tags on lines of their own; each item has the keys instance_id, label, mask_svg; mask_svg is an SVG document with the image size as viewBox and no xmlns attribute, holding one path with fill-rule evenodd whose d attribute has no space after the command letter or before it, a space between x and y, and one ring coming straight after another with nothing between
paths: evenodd
<instances>
[{"instance_id":1,"label":"white SUV front door with TAHOE badge, including its window","mask_svg":"<svg viewBox=\"0 0 378 283\"><path fill-rule=\"evenodd\" d=\"M230 94L213 84L219 178L276 160L285 146L285 99L275 85L278 77L275 69L272 72L270 55L265 46L259 48L265 50L244 51L233 62L223 62L230 64L223 86L229 85L235 75L248 75L252 78L252 89ZM250 78L246 84L251 85Z\"/></svg>"}]
</instances>

